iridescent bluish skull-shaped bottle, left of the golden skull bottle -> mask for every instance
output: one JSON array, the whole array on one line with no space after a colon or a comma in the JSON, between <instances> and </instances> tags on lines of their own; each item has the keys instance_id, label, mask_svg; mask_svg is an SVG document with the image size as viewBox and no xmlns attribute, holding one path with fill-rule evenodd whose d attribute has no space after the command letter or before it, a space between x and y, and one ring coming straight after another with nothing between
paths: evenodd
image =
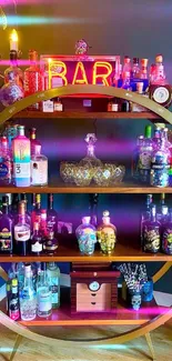
<instances>
[{"instance_id":1,"label":"iridescent bluish skull-shaped bottle, left of the golden skull bottle","mask_svg":"<svg viewBox=\"0 0 172 361\"><path fill-rule=\"evenodd\" d=\"M80 252L83 254L92 254L97 243L97 230L90 223L90 217L82 218L82 224L75 230Z\"/></svg>"}]
</instances>

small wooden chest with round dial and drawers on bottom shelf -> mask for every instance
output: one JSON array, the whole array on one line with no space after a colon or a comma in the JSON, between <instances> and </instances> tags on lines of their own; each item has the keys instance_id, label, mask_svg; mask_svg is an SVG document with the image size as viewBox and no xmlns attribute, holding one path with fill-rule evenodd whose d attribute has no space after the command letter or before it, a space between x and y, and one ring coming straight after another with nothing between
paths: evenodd
<instances>
[{"instance_id":1,"label":"small wooden chest with round dial and drawers on bottom shelf","mask_svg":"<svg viewBox=\"0 0 172 361\"><path fill-rule=\"evenodd\" d=\"M118 304L118 278L114 271L72 271L71 313L114 312Z\"/></svg>"}]
</instances>

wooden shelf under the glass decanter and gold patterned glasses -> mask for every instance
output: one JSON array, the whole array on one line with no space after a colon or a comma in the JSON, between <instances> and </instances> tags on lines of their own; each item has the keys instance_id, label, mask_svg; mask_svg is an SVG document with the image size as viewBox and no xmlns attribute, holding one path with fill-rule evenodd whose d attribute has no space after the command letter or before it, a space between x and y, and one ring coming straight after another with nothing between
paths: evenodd
<instances>
[{"instance_id":1,"label":"wooden shelf under the glass decanter and gold patterned glasses","mask_svg":"<svg viewBox=\"0 0 172 361\"><path fill-rule=\"evenodd\" d=\"M49 185L44 187L14 187L14 185L1 185L0 193L131 193L131 194L146 194L146 193L172 193L172 187L168 188L156 188L138 185L134 183L122 182L113 187L98 187L97 184L91 184L89 187L77 187L71 184L65 184L59 180L53 181Z\"/></svg>"}]
</instances>

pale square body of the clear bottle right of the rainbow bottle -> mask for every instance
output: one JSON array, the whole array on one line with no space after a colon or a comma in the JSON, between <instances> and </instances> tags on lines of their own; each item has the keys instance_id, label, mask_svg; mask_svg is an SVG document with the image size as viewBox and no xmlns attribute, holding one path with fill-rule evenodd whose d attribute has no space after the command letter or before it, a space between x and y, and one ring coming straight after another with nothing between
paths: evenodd
<instances>
[{"instance_id":1,"label":"pale square body of the clear bottle right of the rainbow bottle","mask_svg":"<svg viewBox=\"0 0 172 361\"><path fill-rule=\"evenodd\" d=\"M31 183L40 185L48 183L48 161L31 161Z\"/></svg>"}]
</instances>

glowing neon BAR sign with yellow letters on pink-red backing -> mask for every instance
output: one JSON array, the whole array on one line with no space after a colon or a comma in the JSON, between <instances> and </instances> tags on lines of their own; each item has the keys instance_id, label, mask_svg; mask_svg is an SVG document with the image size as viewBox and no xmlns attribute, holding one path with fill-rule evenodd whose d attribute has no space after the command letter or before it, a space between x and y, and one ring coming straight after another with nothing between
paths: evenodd
<instances>
[{"instance_id":1,"label":"glowing neon BAR sign with yellow letters on pink-red backing","mask_svg":"<svg viewBox=\"0 0 172 361\"><path fill-rule=\"evenodd\" d=\"M40 62L47 73L48 89L68 84L109 87L119 74L120 57L41 56Z\"/></svg>"}]
</instances>

